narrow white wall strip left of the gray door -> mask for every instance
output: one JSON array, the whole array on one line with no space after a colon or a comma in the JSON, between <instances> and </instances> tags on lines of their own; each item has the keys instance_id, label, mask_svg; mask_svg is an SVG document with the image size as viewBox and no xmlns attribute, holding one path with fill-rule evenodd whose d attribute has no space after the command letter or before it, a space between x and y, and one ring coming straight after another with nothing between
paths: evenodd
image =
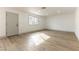
<instances>
[{"instance_id":1,"label":"narrow white wall strip left of the gray door","mask_svg":"<svg viewBox=\"0 0 79 59\"><path fill-rule=\"evenodd\" d=\"M0 8L0 36L5 36L6 32L6 21L5 21L5 11L4 9Z\"/></svg>"}]
</instances>

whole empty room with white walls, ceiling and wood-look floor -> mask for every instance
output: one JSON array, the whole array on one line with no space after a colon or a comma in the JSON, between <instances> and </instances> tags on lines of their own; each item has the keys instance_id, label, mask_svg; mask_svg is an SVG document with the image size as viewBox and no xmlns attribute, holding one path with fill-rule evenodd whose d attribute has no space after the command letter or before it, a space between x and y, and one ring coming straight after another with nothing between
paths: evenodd
<instances>
[{"instance_id":1,"label":"whole empty room with white walls, ceiling and wood-look floor","mask_svg":"<svg viewBox=\"0 0 79 59\"><path fill-rule=\"evenodd\" d=\"M79 8L0 7L0 51L79 51Z\"/></svg>"}]
</instances>

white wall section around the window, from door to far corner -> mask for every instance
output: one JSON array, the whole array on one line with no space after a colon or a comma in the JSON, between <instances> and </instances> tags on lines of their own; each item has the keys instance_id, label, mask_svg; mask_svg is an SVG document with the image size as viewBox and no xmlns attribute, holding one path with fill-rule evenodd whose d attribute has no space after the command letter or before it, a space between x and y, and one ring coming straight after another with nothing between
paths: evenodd
<instances>
[{"instance_id":1,"label":"white wall section around the window, from door to far corner","mask_svg":"<svg viewBox=\"0 0 79 59\"><path fill-rule=\"evenodd\" d=\"M19 14L19 33L26 33L26 32L30 32L30 31L35 31L35 30L41 30L44 29L44 17L42 16L36 16L36 15L32 15L35 17L38 17L39 19L39 24L37 25L29 25L29 19L28 16L31 16L30 14L26 14L26 13L20 13Z\"/></svg>"}]
</instances>

